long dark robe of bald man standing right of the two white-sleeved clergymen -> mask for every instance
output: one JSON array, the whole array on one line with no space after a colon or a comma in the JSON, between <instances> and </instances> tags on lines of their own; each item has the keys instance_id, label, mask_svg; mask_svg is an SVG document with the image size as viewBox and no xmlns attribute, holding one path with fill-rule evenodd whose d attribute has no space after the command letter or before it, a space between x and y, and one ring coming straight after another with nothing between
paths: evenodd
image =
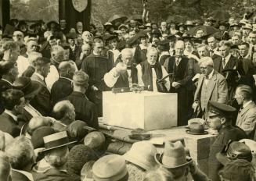
<instances>
[{"instance_id":1,"label":"long dark robe of bald man standing right of the two white-sleeved clergymen","mask_svg":"<svg viewBox=\"0 0 256 181\"><path fill-rule=\"evenodd\" d=\"M171 93L178 93L178 126L187 125L187 120L192 114L193 103L193 60L182 56L182 59L176 66L175 56L171 56L164 62L164 67L168 73L173 73L170 77L170 83L178 82L181 86L178 89L171 86Z\"/></svg>"}]
</instances>

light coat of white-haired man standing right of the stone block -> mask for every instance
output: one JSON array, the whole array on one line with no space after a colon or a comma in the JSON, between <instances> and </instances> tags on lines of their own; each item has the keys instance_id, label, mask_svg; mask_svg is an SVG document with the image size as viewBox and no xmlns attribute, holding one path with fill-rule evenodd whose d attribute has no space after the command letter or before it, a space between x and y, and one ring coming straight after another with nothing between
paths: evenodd
<instances>
[{"instance_id":1,"label":"light coat of white-haired man standing right of the stone block","mask_svg":"<svg viewBox=\"0 0 256 181\"><path fill-rule=\"evenodd\" d=\"M198 80L197 90L194 97L194 101L198 102L199 105L200 105L201 89L204 83L204 79L205 79L204 75L200 75ZM227 86L227 82L225 81L225 77L222 76L222 74L214 70L214 73L211 79L207 83L207 89L209 89L206 95L207 102L209 101L218 101L219 103L227 102L228 86ZM205 112L207 112L208 110L207 107Z\"/></svg>"}]
</instances>

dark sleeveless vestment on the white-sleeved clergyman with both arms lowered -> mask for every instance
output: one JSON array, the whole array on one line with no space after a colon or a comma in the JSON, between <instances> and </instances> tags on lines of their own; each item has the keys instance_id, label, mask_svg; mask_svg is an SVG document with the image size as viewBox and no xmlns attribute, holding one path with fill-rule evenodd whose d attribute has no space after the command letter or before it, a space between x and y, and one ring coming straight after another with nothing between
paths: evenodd
<instances>
[{"instance_id":1,"label":"dark sleeveless vestment on the white-sleeved clergyman with both arms lowered","mask_svg":"<svg viewBox=\"0 0 256 181\"><path fill-rule=\"evenodd\" d=\"M152 68L149 62L144 61L140 64L142 66L142 80L145 86L150 86L149 91L153 91L153 78L152 78ZM162 67L158 62L153 66L157 74L157 80L163 77ZM158 90L159 91L159 90Z\"/></svg>"}]
</instances>

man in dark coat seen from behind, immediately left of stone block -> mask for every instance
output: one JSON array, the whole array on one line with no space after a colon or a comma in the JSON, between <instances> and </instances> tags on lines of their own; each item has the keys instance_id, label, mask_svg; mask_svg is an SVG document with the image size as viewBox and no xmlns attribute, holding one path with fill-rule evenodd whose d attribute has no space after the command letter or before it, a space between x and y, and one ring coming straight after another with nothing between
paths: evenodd
<instances>
[{"instance_id":1,"label":"man in dark coat seen from behind, immediately left of stone block","mask_svg":"<svg viewBox=\"0 0 256 181\"><path fill-rule=\"evenodd\" d=\"M96 112L96 105L85 96L88 88L89 77L86 73L78 71L73 76L73 92L67 97L75 108L76 120L82 120L88 126L98 128L99 122Z\"/></svg>"}]
</instances>

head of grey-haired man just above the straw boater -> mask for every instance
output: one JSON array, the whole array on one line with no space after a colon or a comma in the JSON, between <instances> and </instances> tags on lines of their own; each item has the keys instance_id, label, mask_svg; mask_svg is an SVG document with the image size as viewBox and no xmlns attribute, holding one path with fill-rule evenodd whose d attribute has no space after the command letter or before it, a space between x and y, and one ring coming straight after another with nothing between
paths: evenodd
<instances>
[{"instance_id":1,"label":"head of grey-haired man just above the straw boater","mask_svg":"<svg viewBox=\"0 0 256 181\"><path fill-rule=\"evenodd\" d=\"M74 112L74 105L70 101L59 101L54 105L52 110L53 117L58 120L53 123L54 130L66 130L66 126L74 122L76 113Z\"/></svg>"}]
</instances>

